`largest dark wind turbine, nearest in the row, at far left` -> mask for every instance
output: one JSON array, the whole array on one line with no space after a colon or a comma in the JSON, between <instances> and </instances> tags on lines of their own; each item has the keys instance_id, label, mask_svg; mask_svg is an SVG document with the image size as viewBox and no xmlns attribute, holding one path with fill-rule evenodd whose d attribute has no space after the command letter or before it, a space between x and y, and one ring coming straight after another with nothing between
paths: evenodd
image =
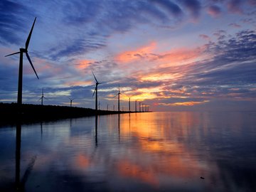
<instances>
[{"instance_id":1,"label":"largest dark wind turbine, nearest in the row, at far left","mask_svg":"<svg viewBox=\"0 0 256 192\"><path fill-rule=\"evenodd\" d=\"M35 25L35 22L36 22L36 18L35 20L33 21L33 26ZM30 33L28 34L28 38L26 40L26 46L25 48L20 48L20 51L19 52L16 52L16 53L11 53L9 55L6 55L5 57L8 57L10 55L15 55L15 54L20 54L20 60L19 60L19 69L18 69L18 98L17 98L17 103L18 105L21 105L22 104L22 76L23 76L23 53L26 53L26 57L28 58L28 61L29 63L31 64L31 67L33 68L33 71L36 73L36 70L35 68L33 67L33 64L32 64L32 61L31 61L31 58L29 57L28 55L28 44L29 44L29 41L31 39L31 34L32 34L32 31L33 31L33 26L31 28L31 31ZM38 75L36 74L36 77L38 78ZM39 79L39 78L38 78Z\"/></svg>"}]
</instances>

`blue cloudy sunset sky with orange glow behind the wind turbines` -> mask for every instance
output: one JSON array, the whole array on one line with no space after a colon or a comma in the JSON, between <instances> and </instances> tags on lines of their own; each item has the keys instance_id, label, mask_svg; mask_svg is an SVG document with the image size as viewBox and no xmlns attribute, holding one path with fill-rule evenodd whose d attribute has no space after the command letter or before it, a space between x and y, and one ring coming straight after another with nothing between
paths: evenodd
<instances>
[{"instance_id":1,"label":"blue cloudy sunset sky with orange glow behind the wind turbines","mask_svg":"<svg viewBox=\"0 0 256 192\"><path fill-rule=\"evenodd\" d=\"M256 110L256 0L0 1L0 102L154 111Z\"/></svg>"}]
</instances>

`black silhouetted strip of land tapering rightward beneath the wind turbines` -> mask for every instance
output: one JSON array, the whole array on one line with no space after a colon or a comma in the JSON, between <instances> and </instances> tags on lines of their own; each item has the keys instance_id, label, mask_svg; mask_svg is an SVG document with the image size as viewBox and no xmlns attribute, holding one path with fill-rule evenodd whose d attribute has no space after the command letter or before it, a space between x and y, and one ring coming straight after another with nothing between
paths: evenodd
<instances>
[{"instance_id":1,"label":"black silhouetted strip of land tapering rightward beneath the wind turbines","mask_svg":"<svg viewBox=\"0 0 256 192\"><path fill-rule=\"evenodd\" d=\"M16 122L40 122L55 119L90 117L95 114L118 114L128 113L107 111L107 110L92 110L82 107L66 107L56 105L31 105L17 103L0 103L0 124L15 124Z\"/></svg>"}]
</instances>

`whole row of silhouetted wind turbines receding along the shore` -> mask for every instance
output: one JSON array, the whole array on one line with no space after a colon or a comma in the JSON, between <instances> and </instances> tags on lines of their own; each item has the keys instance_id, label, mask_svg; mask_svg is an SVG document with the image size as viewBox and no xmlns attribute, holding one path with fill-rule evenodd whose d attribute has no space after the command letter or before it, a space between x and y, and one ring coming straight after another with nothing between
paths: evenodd
<instances>
[{"instance_id":1,"label":"whole row of silhouetted wind turbines receding along the shore","mask_svg":"<svg viewBox=\"0 0 256 192\"><path fill-rule=\"evenodd\" d=\"M28 55L28 45L29 45L29 42L31 40L31 35L32 35L32 32L33 32L33 27L36 23L36 18L34 19L33 21L33 25L31 27L31 31L29 32L28 34L28 38L26 40L26 44L25 44L25 48L20 48L18 52L16 53L11 53L9 55L5 55L5 57L8 57L8 56L11 56L11 55L16 55L16 54L19 54L20 55L20 58L19 58L19 68L18 68L18 97L17 97L17 103L18 105L21 105L22 104L22 81L23 81L23 53L26 54L26 58L28 59L28 62L31 64L31 67L34 71L34 73L36 74L36 78L38 78L38 75L36 73L36 70L35 68L33 67L33 63L31 61L31 58L29 57ZM105 82L98 82L97 81L97 78L95 77L95 74L92 72L92 75L93 77L95 78L95 90L92 94L92 97L94 97L95 95L95 110L97 111L99 108L98 108L98 94L97 94L97 88L98 88L98 85L100 84L103 84ZM38 78L39 80L39 78ZM117 95L115 95L114 97L117 97L118 96L118 112L120 112L120 95L122 95L122 93L120 92L120 87L118 89L118 93ZM47 99L46 97L44 97L43 95L43 89L42 89L42 96L39 100L41 100L41 105L43 105L43 99ZM131 111L131 105L130 105L130 99L131 97L129 97L129 111ZM72 107L72 102L74 99L72 98L69 98L70 100L70 107ZM108 105L107 105L108 106ZM108 108L108 107L107 107ZM107 109L108 110L108 109ZM149 111L149 105L144 105L142 104L142 110L141 110L141 102L139 102L139 112L147 112ZM135 101L135 112L137 112L137 101Z\"/></svg>"}]
</instances>

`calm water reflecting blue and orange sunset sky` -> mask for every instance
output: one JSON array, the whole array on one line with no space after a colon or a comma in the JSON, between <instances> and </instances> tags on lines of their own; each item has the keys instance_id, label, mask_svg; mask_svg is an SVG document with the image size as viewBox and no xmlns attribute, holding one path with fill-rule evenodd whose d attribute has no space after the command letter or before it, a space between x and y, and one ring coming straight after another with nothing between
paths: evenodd
<instances>
[{"instance_id":1,"label":"calm water reflecting blue and orange sunset sky","mask_svg":"<svg viewBox=\"0 0 256 192\"><path fill-rule=\"evenodd\" d=\"M21 145L5 126L0 191L256 191L255 117L151 112L22 124Z\"/></svg>"}]
</instances>

